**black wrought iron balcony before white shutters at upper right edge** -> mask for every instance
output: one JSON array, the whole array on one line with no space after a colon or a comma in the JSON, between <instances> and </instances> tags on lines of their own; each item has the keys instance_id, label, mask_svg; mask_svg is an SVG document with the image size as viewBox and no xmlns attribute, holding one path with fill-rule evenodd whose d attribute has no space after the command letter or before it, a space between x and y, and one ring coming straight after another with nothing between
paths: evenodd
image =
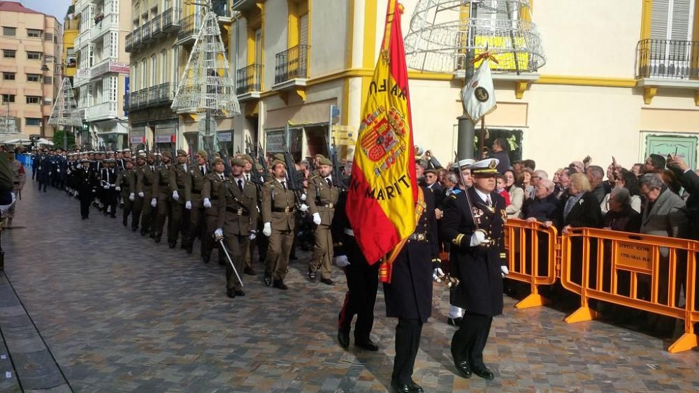
<instances>
[{"instance_id":1,"label":"black wrought iron balcony before white shutters at upper right edge","mask_svg":"<svg viewBox=\"0 0 699 393\"><path fill-rule=\"evenodd\" d=\"M654 39L638 41L636 78L699 79L699 42Z\"/></svg>"}]
</instances>

